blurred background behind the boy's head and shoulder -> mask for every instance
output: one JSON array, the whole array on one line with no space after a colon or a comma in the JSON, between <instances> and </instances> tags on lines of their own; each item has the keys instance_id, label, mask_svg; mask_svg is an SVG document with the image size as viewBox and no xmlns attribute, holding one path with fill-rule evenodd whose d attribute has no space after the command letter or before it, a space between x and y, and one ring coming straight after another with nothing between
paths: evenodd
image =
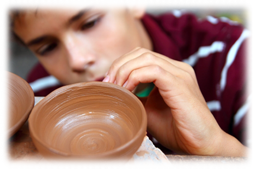
<instances>
[{"instance_id":1,"label":"blurred background behind the boy's head and shoulder","mask_svg":"<svg viewBox=\"0 0 256 169\"><path fill-rule=\"evenodd\" d=\"M228 17L253 29L253 0L148 0L147 11L154 15L162 12L186 9L199 18L208 15ZM38 60L26 47L7 42L0 37L0 69L26 79L27 73Z\"/></svg>"}]
</instances>

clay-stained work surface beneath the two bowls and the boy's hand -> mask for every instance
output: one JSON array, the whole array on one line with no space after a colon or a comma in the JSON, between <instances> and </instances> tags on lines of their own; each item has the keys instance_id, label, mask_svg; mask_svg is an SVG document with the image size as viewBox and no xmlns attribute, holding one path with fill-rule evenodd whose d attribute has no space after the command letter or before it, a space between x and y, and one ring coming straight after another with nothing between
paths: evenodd
<instances>
[{"instance_id":1,"label":"clay-stained work surface beneath the two bowls and the boy's hand","mask_svg":"<svg viewBox=\"0 0 256 169\"><path fill-rule=\"evenodd\" d=\"M160 150L157 151L157 148L148 142L151 141L145 137L142 146L122 169L170 168L169 166L162 167L163 164L167 163L166 157L175 168L252 168L253 166L253 158L245 157L202 157L191 155L166 155L165 157ZM142 154L144 154L143 157L140 156ZM14 136L0 145L0 168L56 169L58 167L48 162L37 151L29 136L28 123L25 123Z\"/></svg>"}]
</instances>

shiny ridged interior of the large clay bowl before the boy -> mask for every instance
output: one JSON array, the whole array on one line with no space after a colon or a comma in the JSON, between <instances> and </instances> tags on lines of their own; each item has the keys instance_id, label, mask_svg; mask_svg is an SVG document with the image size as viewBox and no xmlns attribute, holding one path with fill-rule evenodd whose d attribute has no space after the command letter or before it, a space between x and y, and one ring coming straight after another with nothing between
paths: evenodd
<instances>
[{"instance_id":1,"label":"shiny ridged interior of the large clay bowl before the boy","mask_svg":"<svg viewBox=\"0 0 256 169\"><path fill-rule=\"evenodd\" d=\"M110 83L64 86L35 106L29 129L35 139L59 152L112 151L141 129L145 112L138 101L131 92Z\"/></svg>"}]
</instances>

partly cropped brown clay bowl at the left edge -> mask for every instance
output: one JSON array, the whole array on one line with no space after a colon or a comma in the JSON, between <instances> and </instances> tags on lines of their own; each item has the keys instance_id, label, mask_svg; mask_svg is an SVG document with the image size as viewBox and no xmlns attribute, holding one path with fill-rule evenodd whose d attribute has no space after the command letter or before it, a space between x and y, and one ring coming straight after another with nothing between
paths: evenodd
<instances>
[{"instance_id":1,"label":"partly cropped brown clay bowl at the left edge","mask_svg":"<svg viewBox=\"0 0 256 169\"><path fill-rule=\"evenodd\" d=\"M0 70L0 143L23 126L33 107L31 86L16 74Z\"/></svg>"}]
</instances>

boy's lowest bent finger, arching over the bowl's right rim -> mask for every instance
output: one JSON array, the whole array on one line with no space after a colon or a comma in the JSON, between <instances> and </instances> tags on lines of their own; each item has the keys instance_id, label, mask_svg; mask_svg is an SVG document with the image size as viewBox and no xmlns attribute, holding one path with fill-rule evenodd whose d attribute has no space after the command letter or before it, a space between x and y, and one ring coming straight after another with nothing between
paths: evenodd
<instances>
[{"instance_id":1,"label":"boy's lowest bent finger, arching over the bowl's right rim","mask_svg":"<svg viewBox=\"0 0 256 169\"><path fill-rule=\"evenodd\" d=\"M133 91L139 83L151 82L158 88L160 95L170 108L178 109L179 104L173 105L174 103L183 103L190 98L184 98L184 93L188 93L184 80L159 65L149 65L133 70L123 87Z\"/></svg>"}]
</instances>

